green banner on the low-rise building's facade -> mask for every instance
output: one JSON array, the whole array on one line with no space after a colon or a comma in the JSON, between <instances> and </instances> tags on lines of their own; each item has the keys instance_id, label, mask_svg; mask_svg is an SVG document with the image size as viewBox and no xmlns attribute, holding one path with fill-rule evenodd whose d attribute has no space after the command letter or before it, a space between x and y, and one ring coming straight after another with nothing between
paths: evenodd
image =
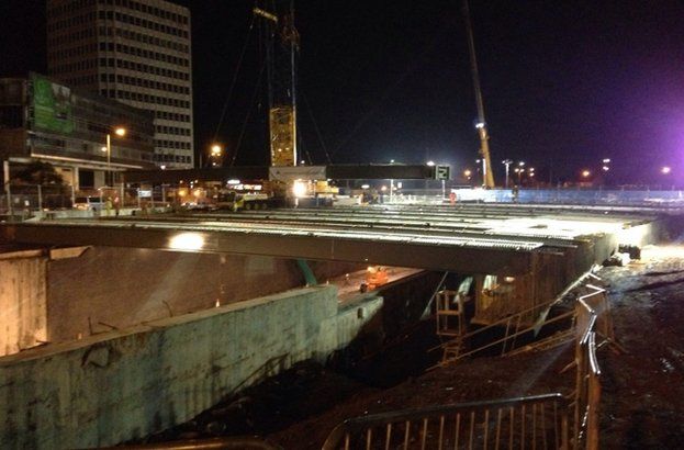
<instances>
[{"instance_id":1,"label":"green banner on the low-rise building's facade","mask_svg":"<svg viewBox=\"0 0 684 450\"><path fill-rule=\"evenodd\" d=\"M31 75L31 81L34 126L49 132L71 134L74 132L71 90L35 74Z\"/></svg>"}]
</instances>

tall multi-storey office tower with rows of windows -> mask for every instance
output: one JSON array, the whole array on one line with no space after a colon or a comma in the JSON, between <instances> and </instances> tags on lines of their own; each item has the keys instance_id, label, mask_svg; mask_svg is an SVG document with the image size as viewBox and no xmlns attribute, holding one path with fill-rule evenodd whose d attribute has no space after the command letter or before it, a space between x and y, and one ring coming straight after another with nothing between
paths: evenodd
<instances>
[{"instance_id":1,"label":"tall multi-storey office tower with rows of windows","mask_svg":"<svg viewBox=\"0 0 684 450\"><path fill-rule=\"evenodd\" d=\"M193 166L190 11L166 0L47 0L55 79L154 112L159 167Z\"/></svg>"}]
</instances>

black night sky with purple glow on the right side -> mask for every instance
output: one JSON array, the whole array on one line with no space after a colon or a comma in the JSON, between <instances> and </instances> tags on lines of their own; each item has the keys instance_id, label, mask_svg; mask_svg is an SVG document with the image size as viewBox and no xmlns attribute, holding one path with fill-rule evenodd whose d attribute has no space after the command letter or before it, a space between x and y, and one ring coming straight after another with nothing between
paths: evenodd
<instances>
[{"instance_id":1,"label":"black night sky with purple glow on the right side","mask_svg":"<svg viewBox=\"0 0 684 450\"><path fill-rule=\"evenodd\" d=\"M218 128L228 159L267 164L263 89L251 102L256 29L218 126L254 2L177 3L192 12L195 146L208 148ZM1 74L45 71L44 14L43 1L0 1ZM683 3L471 0L471 14L500 179L504 158L554 182L596 170L602 158L614 161L613 182L684 178ZM300 0L296 26L302 159L474 168L460 0ZM658 171L665 165L670 181Z\"/></svg>"}]
</instances>

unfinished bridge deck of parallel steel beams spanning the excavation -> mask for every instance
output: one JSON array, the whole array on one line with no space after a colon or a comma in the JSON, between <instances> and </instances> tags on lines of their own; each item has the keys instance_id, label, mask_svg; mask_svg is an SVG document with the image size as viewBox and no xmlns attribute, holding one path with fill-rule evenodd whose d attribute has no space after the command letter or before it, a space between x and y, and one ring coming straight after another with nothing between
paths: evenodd
<instances>
[{"instance_id":1,"label":"unfinished bridge deck of parallel steel beams spanning the excavation","mask_svg":"<svg viewBox=\"0 0 684 450\"><path fill-rule=\"evenodd\" d=\"M535 252L652 220L527 207L303 209L5 224L9 241L114 246L368 262L460 273L527 273Z\"/></svg>"}]
</instances>

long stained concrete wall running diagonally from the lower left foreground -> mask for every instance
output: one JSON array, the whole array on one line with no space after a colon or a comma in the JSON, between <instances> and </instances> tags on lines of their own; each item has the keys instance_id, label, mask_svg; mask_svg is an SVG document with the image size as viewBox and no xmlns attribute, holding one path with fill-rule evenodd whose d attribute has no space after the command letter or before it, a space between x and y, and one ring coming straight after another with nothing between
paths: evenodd
<instances>
[{"instance_id":1,"label":"long stained concrete wall running diagonally from the lower left foreground","mask_svg":"<svg viewBox=\"0 0 684 450\"><path fill-rule=\"evenodd\" d=\"M344 347L381 307L315 286L0 358L0 448L110 446Z\"/></svg>"}]
</instances>

